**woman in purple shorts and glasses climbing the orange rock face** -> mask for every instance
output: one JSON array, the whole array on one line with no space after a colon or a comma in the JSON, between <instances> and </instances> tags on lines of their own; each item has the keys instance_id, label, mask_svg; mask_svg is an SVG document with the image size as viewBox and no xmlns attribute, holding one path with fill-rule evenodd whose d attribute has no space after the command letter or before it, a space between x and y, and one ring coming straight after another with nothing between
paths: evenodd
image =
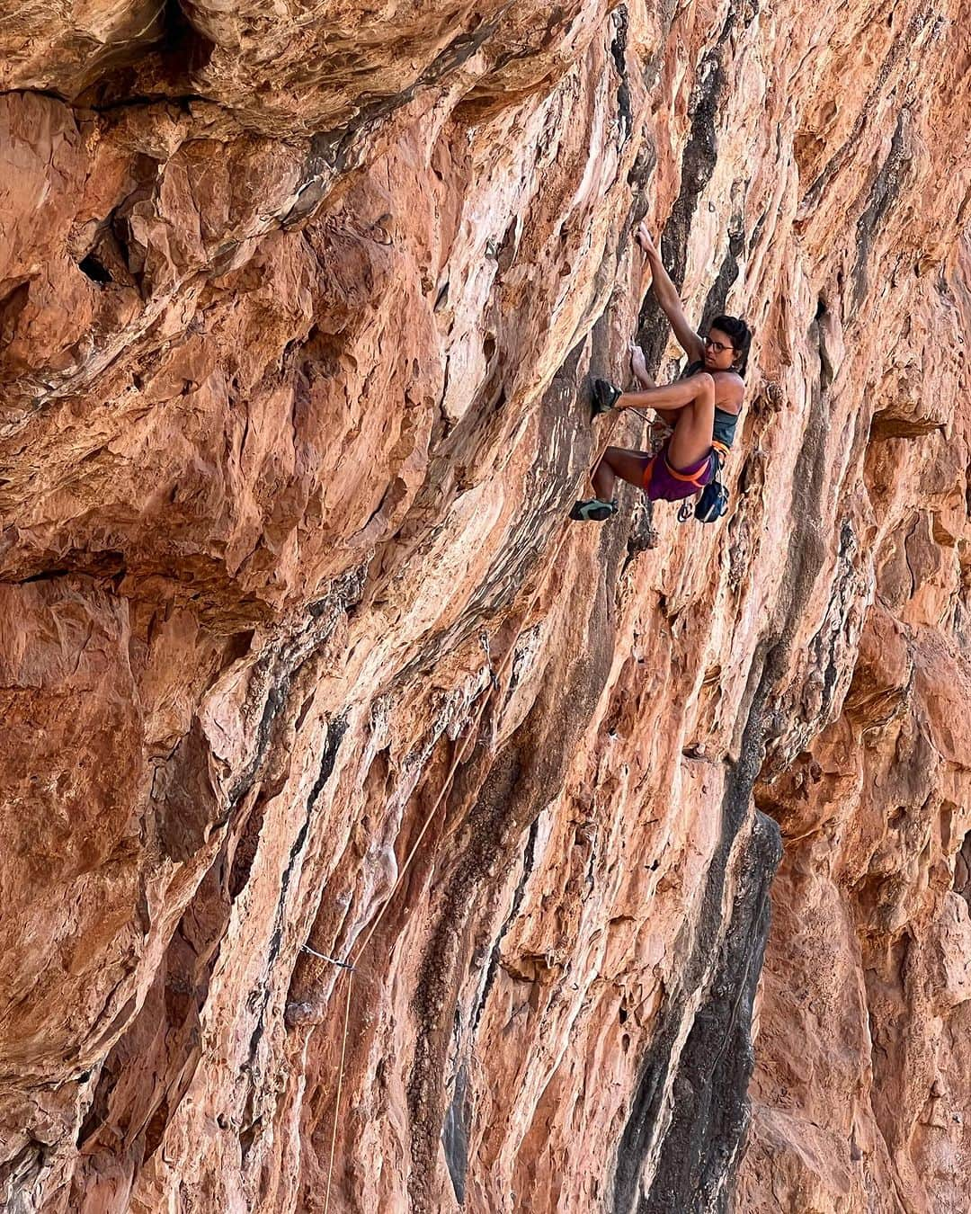
<instances>
[{"instance_id":1,"label":"woman in purple shorts and glasses climbing the orange rock face","mask_svg":"<svg viewBox=\"0 0 971 1214\"><path fill-rule=\"evenodd\" d=\"M631 344L631 367L641 391L621 392L607 380L594 380L595 418L611 409L648 407L674 429L657 455L608 447L594 470L596 497L578 501L570 518L603 522L615 515L617 477L643 489L652 501L658 498L677 501L703 489L715 476L716 453L723 456L734 441L742 410L743 376L751 345L749 327L738 317L717 316L706 336L695 333L647 225L638 225L635 239L651 266L654 296L689 362L681 379L657 387L647 373L643 351Z\"/></svg>"}]
</instances>

